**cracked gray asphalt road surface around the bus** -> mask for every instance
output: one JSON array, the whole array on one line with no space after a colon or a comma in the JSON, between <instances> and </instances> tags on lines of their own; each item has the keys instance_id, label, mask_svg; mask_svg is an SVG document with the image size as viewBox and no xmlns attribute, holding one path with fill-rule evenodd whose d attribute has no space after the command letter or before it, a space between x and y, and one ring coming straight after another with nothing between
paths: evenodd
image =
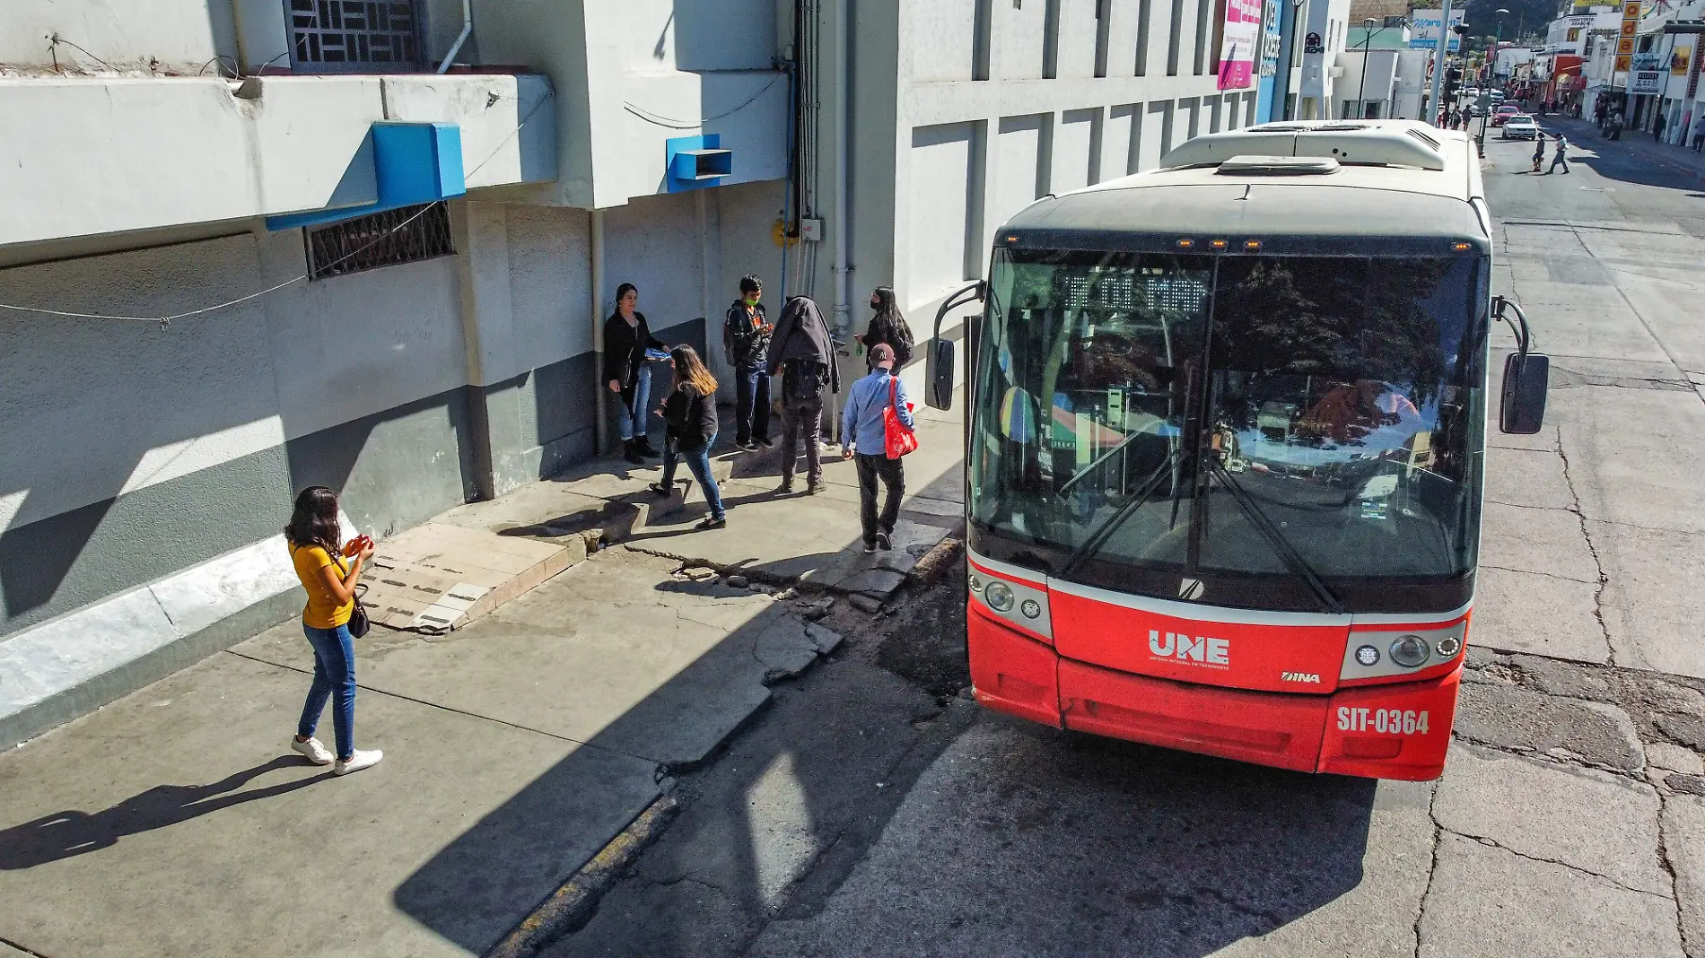
<instances>
[{"instance_id":1,"label":"cracked gray asphalt road surface around the bus","mask_svg":"<svg viewBox=\"0 0 1705 958\"><path fill-rule=\"evenodd\" d=\"M842 646L679 779L679 818L544 953L1705 958L1705 193L1565 130L1570 176L1488 140L1494 288L1552 407L1487 452L1441 781L982 713L948 574L837 602Z\"/></svg>"}]
</instances>

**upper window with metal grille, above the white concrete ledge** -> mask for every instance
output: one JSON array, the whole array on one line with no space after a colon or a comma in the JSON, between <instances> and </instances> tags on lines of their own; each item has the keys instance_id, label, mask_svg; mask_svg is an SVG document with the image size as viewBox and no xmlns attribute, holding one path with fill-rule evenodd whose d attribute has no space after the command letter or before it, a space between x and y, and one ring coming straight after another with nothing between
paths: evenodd
<instances>
[{"instance_id":1,"label":"upper window with metal grille, above the white concrete ledge","mask_svg":"<svg viewBox=\"0 0 1705 958\"><path fill-rule=\"evenodd\" d=\"M290 66L298 73L402 73L419 68L418 0L285 0Z\"/></svg>"}]
</instances>

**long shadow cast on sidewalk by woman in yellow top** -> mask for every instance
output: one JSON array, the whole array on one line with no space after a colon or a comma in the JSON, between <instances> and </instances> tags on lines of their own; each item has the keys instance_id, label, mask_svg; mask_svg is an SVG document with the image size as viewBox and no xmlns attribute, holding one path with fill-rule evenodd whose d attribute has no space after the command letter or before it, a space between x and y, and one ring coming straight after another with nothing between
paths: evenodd
<instances>
[{"instance_id":1,"label":"long shadow cast on sidewalk by woman in yellow top","mask_svg":"<svg viewBox=\"0 0 1705 958\"><path fill-rule=\"evenodd\" d=\"M251 791L232 791L266 772L280 769L300 770L303 767L309 765L302 759L280 755L263 765L232 772L211 784L155 786L92 815L66 810L14 825L0 830L0 869L19 871L101 851L116 845L126 835L165 828L246 801L276 798L331 777L331 772L324 772Z\"/></svg>"}]
</instances>

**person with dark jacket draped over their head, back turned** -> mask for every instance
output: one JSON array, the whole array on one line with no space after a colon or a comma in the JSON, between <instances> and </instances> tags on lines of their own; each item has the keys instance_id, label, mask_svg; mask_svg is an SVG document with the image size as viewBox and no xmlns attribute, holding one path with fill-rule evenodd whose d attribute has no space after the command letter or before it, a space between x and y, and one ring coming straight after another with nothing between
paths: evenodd
<instances>
[{"instance_id":1,"label":"person with dark jacket draped over their head, back turned","mask_svg":"<svg viewBox=\"0 0 1705 958\"><path fill-rule=\"evenodd\" d=\"M776 320L769 344L769 375L781 377L781 486L793 491L795 457L805 440L805 493L815 496L824 484L824 387L841 392L835 344L829 324L810 297L793 297Z\"/></svg>"}]
</instances>

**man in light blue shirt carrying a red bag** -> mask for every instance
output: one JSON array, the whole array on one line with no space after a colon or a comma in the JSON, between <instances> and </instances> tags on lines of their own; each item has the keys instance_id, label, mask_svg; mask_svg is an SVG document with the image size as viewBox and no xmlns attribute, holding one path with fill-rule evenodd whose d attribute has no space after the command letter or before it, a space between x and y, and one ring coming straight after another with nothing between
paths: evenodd
<instances>
[{"instance_id":1,"label":"man in light blue shirt carrying a red bag","mask_svg":"<svg viewBox=\"0 0 1705 958\"><path fill-rule=\"evenodd\" d=\"M914 424L905 384L893 375L893 346L878 343L870 348L870 375L854 382L841 414L841 459L852 459L858 447L858 511L864 527L864 551L893 549L893 523L900 520L900 496L905 494L905 470L899 459L888 459L887 430L881 413L888 407L890 389L900 421ZM885 496L881 515L876 515L876 481L881 479Z\"/></svg>"}]
</instances>

